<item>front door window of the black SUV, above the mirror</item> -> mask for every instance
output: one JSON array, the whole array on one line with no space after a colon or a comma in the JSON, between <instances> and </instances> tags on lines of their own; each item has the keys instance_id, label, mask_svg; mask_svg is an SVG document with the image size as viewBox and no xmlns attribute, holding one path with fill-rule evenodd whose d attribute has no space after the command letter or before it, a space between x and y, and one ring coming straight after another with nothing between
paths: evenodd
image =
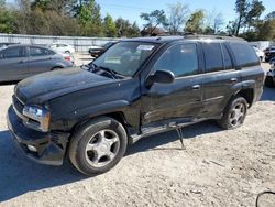
<instances>
[{"instance_id":1,"label":"front door window of the black SUV, above the mirror","mask_svg":"<svg viewBox=\"0 0 275 207\"><path fill-rule=\"evenodd\" d=\"M154 70L170 70L175 77L198 74L198 55L196 44L180 44L169 47L160 57Z\"/></svg>"}]
</instances>

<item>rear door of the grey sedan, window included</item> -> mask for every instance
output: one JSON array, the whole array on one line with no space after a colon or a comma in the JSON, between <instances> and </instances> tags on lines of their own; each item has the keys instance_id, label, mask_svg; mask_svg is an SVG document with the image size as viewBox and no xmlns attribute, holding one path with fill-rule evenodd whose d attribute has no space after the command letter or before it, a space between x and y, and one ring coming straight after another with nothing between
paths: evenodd
<instances>
[{"instance_id":1,"label":"rear door of the grey sedan, window included","mask_svg":"<svg viewBox=\"0 0 275 207\"><path fill-rule=\"evenodd\" d=\"M29 47L29 73L30 75L41 74L53 69L55 58L51 50L30 46Z\"/></svg>"}]
</instances>

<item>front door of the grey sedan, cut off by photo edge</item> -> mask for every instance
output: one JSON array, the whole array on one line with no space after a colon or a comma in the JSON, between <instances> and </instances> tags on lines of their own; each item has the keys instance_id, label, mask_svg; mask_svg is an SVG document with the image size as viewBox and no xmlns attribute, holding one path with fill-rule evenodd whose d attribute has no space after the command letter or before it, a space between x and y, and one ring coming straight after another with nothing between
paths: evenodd
<instances>
[{"instance_id":1,"label":"front door of the grey sedan, cut off by photo edge","mask_svg":"<svg viewBox=\"0 0 275 207\"><path fill-rule=\"evenodd\" d=\"M21 80L29 76L25 46L11 46L0 52L0 81Z\"/></svg>"}]
</instances>

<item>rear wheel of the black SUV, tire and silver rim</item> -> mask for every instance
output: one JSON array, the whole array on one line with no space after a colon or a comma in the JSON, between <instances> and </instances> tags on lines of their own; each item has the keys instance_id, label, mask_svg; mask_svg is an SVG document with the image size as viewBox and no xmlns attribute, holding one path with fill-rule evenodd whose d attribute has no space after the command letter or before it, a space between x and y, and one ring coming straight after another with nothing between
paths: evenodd
<instances>
[{"instance_id":1,"label":"rear wheel of the black SUV, tire and silver rim","mask_svg":"<svg viewBox=\"0 0 275 207\"><path fill-rule=\"evenodd\" d=\"M243 97L235 97L229 102L218 124L226 130L239 128L243 124L246 113L248 101Z\"/></svg>"}]
</instances>

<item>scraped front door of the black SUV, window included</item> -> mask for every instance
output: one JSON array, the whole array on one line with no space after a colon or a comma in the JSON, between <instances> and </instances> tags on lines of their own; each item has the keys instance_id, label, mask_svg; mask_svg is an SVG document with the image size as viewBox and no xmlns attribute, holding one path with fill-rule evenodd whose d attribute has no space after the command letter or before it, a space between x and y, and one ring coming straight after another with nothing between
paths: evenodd
<instances>
[{"instance_id":1,"label":"scraped front door of the black SUV, window included","mask_svg":"<svg viewBox=\"0 0 275 207\"><path fill-rule=\"evenodd\" d=\"M170 70L173 84L153 84L142 97L142 124L163 120L191 121L201 111L202 88L197 44L177 44L167 48L154 65L156 70Z\"/></svg>"}]
</instances>

